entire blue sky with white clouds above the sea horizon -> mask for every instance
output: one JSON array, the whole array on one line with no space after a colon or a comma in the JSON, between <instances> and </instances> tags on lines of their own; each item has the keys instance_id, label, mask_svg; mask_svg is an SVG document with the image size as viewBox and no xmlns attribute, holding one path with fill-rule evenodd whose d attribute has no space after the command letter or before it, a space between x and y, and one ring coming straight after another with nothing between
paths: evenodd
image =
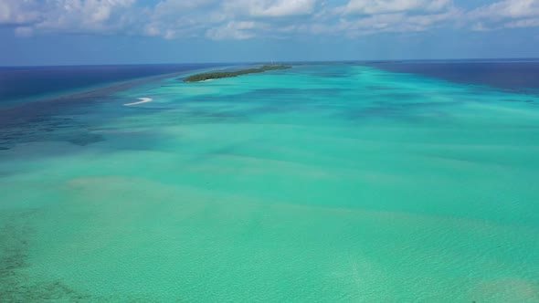
<instances>
[{"instance_id":1,"label":"entire blue sky with white clouds above the sea horizon","mask_svg":"<svg viewBox=\"0 0 539 303\"><path fill-rule=\"evenodd\" d=\"M539 0L0 0L0 66L539 57Z\"/></svg>"}]
</instances>

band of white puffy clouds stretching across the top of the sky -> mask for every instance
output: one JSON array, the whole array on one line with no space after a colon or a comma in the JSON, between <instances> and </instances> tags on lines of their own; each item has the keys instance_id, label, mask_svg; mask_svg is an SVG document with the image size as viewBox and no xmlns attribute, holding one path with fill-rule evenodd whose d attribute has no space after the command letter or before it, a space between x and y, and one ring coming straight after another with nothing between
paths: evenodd
<instances>
[{"instance_id":1,"label":"band of white puffy clouds stretching across the top of the sky","mask_svg":"<svg viewBox=\"0 0 539 303\"><path fill-rule=\"evenodd\" d=\"M464 1L464 0L462 0ZM297 35L358 37L539 27L539 0L463 9L451 0L0 0L0 26L50 33L215 40Z\"/></svg>"}]
</instances>

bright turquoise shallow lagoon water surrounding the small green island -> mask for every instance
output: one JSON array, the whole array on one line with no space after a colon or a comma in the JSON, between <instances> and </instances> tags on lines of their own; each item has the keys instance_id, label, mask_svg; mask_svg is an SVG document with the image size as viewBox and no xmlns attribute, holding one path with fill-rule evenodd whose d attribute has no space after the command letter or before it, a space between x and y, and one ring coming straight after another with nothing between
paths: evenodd
<instances>
[{"instance_id":1,"label":"bright turquoise shallow lagoon water surrounding the small green island","mask_svg":"<svg viewBox=\"0 0 539 303\"><path fill-rule=\"evenodd\" d=\"M81 104L0 151L6 301L539 302L536 95L327 65Z\"/></svg>"}]
</instances>

